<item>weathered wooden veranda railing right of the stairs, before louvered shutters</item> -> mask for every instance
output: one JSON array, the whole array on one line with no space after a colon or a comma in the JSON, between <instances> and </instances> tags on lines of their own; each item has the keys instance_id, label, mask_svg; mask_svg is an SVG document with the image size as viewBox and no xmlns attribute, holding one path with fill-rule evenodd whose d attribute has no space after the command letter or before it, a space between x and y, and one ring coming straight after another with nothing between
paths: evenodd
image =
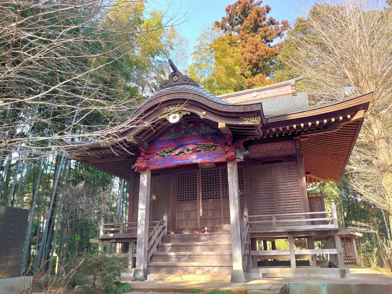
<instances>
[{"instance_id":1,"label":"weathered wooden veranda railing right of the stairs, before louvered shutters","mask_svg":"<svg viewBox=\"0 0 392 294\"><path fill-rule=\"evenodd\" d=\"M314 214L321 214L326 216L329 214L330 217L309 218ZM258 218L259 220L257 220ZM281 229L315 229L338 227L338 214L336 213L336 206L333 200L331 204L331 211L260 214L250 215L249 219L251 219L249 221L250 231L276 229L278 227ZM311 221L326 221L327 224L311 225Z\"/></svg>"}]
</instances>

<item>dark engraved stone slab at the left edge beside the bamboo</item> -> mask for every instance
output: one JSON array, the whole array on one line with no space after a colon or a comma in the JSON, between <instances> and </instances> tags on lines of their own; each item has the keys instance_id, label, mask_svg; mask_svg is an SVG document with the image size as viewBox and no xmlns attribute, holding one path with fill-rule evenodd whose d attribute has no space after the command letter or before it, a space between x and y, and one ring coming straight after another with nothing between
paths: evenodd
<instances>
[{"instance_id":1,"label":"dark engraved stone slab at the left edge beside the bamboo","mask_svg":"<svg viewBox=\"0 0 392 294\"><path fill-rule=\"evenodd\" d=\"M0 206L0 278L19 276L29 211Z\"/></svg>"}]
</instances>

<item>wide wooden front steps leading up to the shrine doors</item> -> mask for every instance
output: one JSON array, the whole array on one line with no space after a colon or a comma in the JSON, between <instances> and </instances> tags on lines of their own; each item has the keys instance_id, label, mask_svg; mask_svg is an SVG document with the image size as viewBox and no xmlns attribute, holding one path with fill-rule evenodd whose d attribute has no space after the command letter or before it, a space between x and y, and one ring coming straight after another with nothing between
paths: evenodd
<instances>
[{"instance_id":1,"label":"wide wooden front steps leading up to the shrine doors","mask_svg":"<svg viewBox=\"0 0 392 294\"><path fill-rule=\"evenodd\" d=\"M246 246L245 261L249 254L249 244ZM152 254L148 269L148 279L153 280L230 281L231 234L166 235Z\"/></svg>"}]
</instances>

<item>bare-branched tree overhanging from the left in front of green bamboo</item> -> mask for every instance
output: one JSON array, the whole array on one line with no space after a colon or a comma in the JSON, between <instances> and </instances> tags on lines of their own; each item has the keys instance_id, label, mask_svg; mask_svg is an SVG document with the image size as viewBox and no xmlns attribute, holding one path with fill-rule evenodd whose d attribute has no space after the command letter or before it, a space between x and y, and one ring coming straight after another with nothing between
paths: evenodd
<instances>
[{"instance_id":1,"label":"bare-branched tree overhanging from the left in front of green bamboo","mask_svg":"<svg viewBox=\"0 0 392 294\"><path fill-rule=\"evenodd\" d=\"M161 80L165 29L187 18L156 6L0 2L0 158L96 142L128 116Z\"/></svg>"}]
</instances>

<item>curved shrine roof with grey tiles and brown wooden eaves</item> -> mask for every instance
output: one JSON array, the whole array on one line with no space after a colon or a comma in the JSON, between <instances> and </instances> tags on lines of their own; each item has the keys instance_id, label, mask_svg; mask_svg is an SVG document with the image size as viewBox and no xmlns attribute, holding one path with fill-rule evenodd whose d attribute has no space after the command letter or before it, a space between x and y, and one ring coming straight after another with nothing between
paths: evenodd
<instances>
[{"instance_id":1,"label":"curved shrine roof with grey tiles and brown wooden eaves","mask_svg":"<svg viewBox=\"0 0 392 294\"><path fill-rule=\"evenodd\" d=\"M138 148L172 127L166 114L182 109L183 123L209 124L245 146L299 138L307 181L339 181L372 98L367 93L309 106L307 93L296 92L301 78L217 97L178 71L169 79L176 74L178 84L161 85L129 118L108 128L104 142L75 148L67 158L127 179Z\"/></svg>"}]
</instances>

